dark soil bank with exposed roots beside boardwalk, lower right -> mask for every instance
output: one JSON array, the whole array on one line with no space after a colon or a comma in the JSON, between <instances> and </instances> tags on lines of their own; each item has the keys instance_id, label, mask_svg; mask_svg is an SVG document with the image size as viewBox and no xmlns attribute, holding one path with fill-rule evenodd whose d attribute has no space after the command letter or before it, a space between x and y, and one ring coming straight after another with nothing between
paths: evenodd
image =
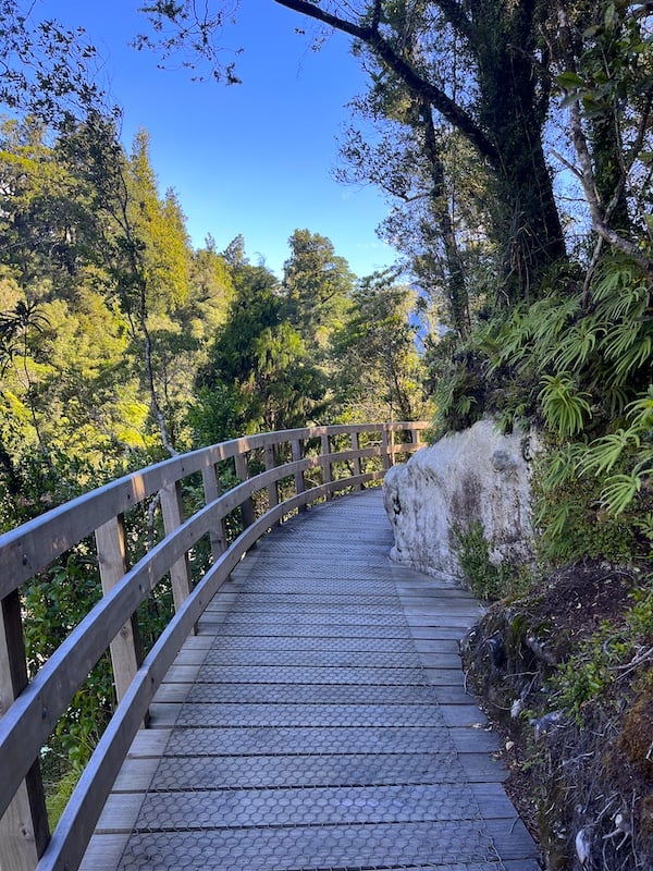
<instances>
[{"instance_id":1,"label":"dark soil bank with exposed roots beside boardwalk, lower right","mask_svg":"<svg viewBox=\"0 0 653 871\"><path fill-rule=\"evenodd\" d=\"M503 738L506 789L549 871L653 869L653 658L586 703L581 722L547 690L603 624L618 636L640 582L597 561L565 566L534 598L492 605L464 646L469 685Z\"/></svg>"}]
</instances>

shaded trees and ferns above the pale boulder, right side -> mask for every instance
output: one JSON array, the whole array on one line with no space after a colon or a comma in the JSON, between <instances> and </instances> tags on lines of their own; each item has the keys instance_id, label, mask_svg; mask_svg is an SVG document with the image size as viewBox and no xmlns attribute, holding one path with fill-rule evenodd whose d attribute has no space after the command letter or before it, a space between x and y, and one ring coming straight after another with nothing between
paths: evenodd
<instances>
[{"instance_id":1,"label":"shaded trees and ferns above the pale boulder, right side","mask_svg":"<svg viewBox=\"0 0 653 871\"><path fill-rule=\"evenodd\" d=\"M316 48L348 36L368 75L340 174L387 194L380 233L436 312L438 431L537 424L554 469L545 537L581 477L650 539L652 4L270 2ZM238 7L155 2L139 46L237 82L220 47Z\"/></svg>"}]
</instances>

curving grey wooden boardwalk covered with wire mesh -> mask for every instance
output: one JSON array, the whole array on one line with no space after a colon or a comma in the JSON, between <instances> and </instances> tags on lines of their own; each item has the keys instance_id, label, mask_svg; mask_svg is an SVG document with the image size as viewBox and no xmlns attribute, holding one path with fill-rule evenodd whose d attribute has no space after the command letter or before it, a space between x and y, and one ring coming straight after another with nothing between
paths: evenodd
<instances>
[{"instance_id":1,"label":"curving grey wooden boardwalk covered with wire mesh","mask_svg":"<svg viewBox=\"0 0 653 871\"><path fill-rule=\"evenodd\" d=\"M534 871L463 686L464 591L392 564L379 490L260 542L188 639L86 871Z\"/></svg>"}]
</instances>

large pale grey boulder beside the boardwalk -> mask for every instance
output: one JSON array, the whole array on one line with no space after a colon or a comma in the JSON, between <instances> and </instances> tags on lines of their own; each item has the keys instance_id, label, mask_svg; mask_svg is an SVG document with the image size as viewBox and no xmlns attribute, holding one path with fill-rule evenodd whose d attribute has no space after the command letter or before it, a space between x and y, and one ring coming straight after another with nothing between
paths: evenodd
<instances>
[{"instance_id":1,"label":"large pale grey boulder beside the boardwalk","mask_svg":"<svg viewBox=\"0 0 653 871\"><path fill-rule=\"evenodd\" d=\"M391 556L428 574L461 575L454 528L483 527L493 563L532 559L531 439L503 436L492 420L445 436L383 481L394 529Z\"/></svg>"}]
</instances>

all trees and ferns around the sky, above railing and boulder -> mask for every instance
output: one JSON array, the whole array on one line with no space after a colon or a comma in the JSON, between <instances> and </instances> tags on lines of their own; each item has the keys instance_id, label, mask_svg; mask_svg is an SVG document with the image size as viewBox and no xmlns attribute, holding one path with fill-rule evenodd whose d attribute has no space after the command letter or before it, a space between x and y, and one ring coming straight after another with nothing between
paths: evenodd
<instances>
[{"instance_id":1,"label":"all trees and ferns around the sky, above railing and boulder","mask_svg":"<svg viewBox=\"0 0 653 871\"><path fill-rule=\"evenodd\" d=\"M338 173L386 194L396 272L357 282L309 230L283 277L248 262L237 228L194 250L147 133L120 143L86 35L3 2L7 491L33 474L74 490L239 429L419 415L432 394L436 432L492 414L547 434L545 537L583 477L649 538L651 3L269 2L316 48L350 38L369 86ZM235 84L238 7L152 2L135 46Z\"/></svg>"}]
</instances>

